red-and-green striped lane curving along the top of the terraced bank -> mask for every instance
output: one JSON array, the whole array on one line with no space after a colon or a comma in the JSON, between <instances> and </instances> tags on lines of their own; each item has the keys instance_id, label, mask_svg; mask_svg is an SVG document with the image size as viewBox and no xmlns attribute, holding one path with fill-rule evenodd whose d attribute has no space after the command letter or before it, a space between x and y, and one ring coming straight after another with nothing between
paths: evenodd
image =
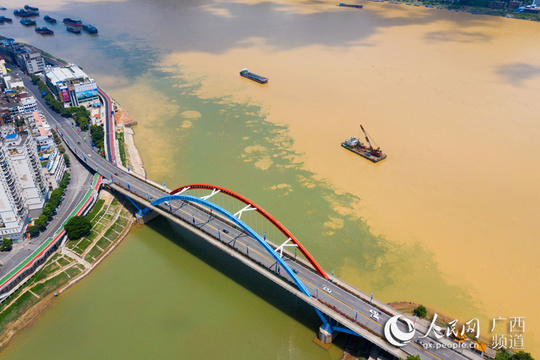
<instances>
[{"instance_id":1,"label":"red-and-green striped lane curving along the top of the terraced bank","mask_svg":"<svg viewBox=\"0 0 540 360\"><path fill-rule=\"evenodd\" d=\"M22 261L15 269L10 273L6 274L0 280L0 302L3 302L9 295L11 295L18 288L17 285L22 285L24 282L21 281L17 284L17 280L20 281L20 275L26 270L32 269L37 262L43 260L43 258L48 257L48 251L54 246L57 245L60 240L65 236L64 225L71 219L73 216L81 215L85 210L87 210L88 205L97 199L97 192L101 185L101 175L95 174L92 182L92 187L86 192L86 195L81 200L79 205L73 210L73 212L66 218L62 223L60 229L54 234L53 237L47 239L39 248L37 248L32 254L30 254L24 261ZM27 274L29 275L29 274ZM29 277L28 277L29 278ZM28 278L26 280L28 280ZM12 290L12 291L10 291Z\"/></svg>"}]
</instances>

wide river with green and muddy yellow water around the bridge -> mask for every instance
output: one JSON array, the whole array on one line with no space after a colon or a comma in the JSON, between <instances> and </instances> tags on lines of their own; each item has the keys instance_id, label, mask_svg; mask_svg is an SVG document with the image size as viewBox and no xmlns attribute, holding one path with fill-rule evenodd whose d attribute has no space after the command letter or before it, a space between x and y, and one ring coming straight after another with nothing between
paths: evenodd
<instances>
[{"instance_id":1,"label":"wide river with green and muddy yellow water around the bridge","mask_svg":"<svg viewBox=\"0 0 540 360\"><path fill-rule=\"evenodd\" d=\"M488 336L490 319L525 317L525 347L538 354L540 24L370 2L33 5L82 17L100 34L57 25L42 38L15 23L2 35L81 65L128 109L150 178L242 193L327 271L383 301L478 317ZM243 67L269 84L239 77ZM359 124L387 160L374 165L339 146ZM230 358L255 348L269 359L338 356L311 343L317 322L298 304L276 307L170 231L134 231L6 356L46 347L51 356L129 348L140 358L197 357L211 346ZM182 312L190 306L190 315L209 313L207 325ZM96 334L107 346L89 340Z\"/></svg>"}]
</instances>

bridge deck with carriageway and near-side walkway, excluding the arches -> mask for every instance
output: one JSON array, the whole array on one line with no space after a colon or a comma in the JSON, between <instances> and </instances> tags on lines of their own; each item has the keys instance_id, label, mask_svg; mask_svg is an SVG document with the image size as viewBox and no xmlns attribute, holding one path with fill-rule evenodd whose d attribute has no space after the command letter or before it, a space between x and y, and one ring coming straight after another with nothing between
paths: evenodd
<instances>
[{"instance_id":1,"label":"bridge deck with carriageway and near-side walkway, excluding the arches","mask_svg":"<svg viewBox=\"0 0 540 360\"><path fill-rule=\"evenodd\" d=\"M23 77L23 79L25 85L31 92L39 94L37 88L31 84L28 78ZM356 332L389 353L401 358L405 358L407 354L411 354L420 355L422 359L482 359L480 356L467 349L463 351L463 354L448 348L430 348L426 350L414 342L401 348L396 348L386 342L383 335L383 326L386 321L391 316L399 314L393 309L381 304L382 307L385 307L385 311L381 311L379 308L371 305L369 301L362 300L362 298L366 299L369 297L365 294L360 294L359 291L357 292L357 290L350 285L341 282L342 286L349 289L349 291L344 290L338 286L340 281L337 279L335 282L324 279L311 267L304 266L302 261L294 261L293 259L288 258L286 260L287 264L293 271L297 272L298 277L311 292L312 297L310 298L300 292L295 286L291 285L293 284L292 280L286 272L279 269L275 264L274 259L265 252L261 245L243 232L237 230L236 227L231 226L231 223L228 221L210 215L208 212L205 212L202 207L193 206L189 203L180 201L171 202L171 208L165 206L163 203L160 204L159 207L150 205L152 200L169 195L169 193L164 191L164 189L158 188L155 185L122 171L111 162L99 156L81 138L81 134L78 132L77 128L72 125L70 120L49 111L41 96L38 95L35 97L40 102L40 107L47 115L47 119L51 126L57 127L57 131L68 144L69 148L90 168L101 174L104 178L111 180L112 184L110 184L110 187L112 189L135 199L136 202L143 206L152 208L161 215L164 215L172 221L188 228L190 231L195 232L207 241L213 242L216 247L220 247L224 251L227 251L229 254L243 261L246 265L263 274L271 281L295 294L309 305L319 309L323 314L338 321L342 327L346 327ZM224 229L227 230L228 233L225 233L223 231ZM231 246L236 250L231 250ZM246 256L242 256L241 254ZM257 262L262 266L257 265ZM323 290L324 287L328 288L330 291L327 292ZM329 306L322 302L326 302ZM335 307L337 311L331 307ZM380 319L378 321L369 316L370 310L375 310L380 314ZM351 319L356 318L357 322L363 325L363 327L342 314L347 315ZM406 330L404 324L400 324L400 327L402 327L403 330ZM415 338L417 339L425 335L425 329L419 329L419 326L416 327ZM369 331L366 330L366 328L369 329ZM374 335L373 333L377 335ZM431 343L433 346L436 346L437 344L439 346L442 346L443 344L453 344L451 340L446 338L434 338L432 333L428 338L422 339L422 341Z\"/></svg>"}]
</instances>

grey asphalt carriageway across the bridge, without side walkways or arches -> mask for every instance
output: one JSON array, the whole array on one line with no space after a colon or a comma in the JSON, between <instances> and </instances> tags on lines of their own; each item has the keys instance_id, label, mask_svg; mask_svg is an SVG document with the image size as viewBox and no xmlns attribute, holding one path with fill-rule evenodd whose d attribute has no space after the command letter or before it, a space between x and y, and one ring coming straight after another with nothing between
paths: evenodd
<instances>
[{"instance_id":1,"label":"grey asphalt carriageway across the bridge, without side walkways or arches","mask_svg":"<svg viewBox=\"0 0 540 360\"><path fill-rule=\"evenodd\" d=\"M33 92L34 95L39 94L37 87L32 85L28 78L25 76L22 78L24 79L23 81L25 86L29 89L29 91ZM41 96L35 96L39 102L43 103ZM95 150L93 150L88 143L84 141L84 139L81 137L81 133L71 123L71 121L62 118L56 113L49 112L47 108L44 108L43 111L46 114L47 119L50 119L49 123L51 126L57 127L58 132L72 151L75 152L83 162L100 173L104 178L111 180L115 185L123 189L127 189L132 195L139 197L139 201L142 202L144 202L144 200L152 201L169 195L166 191L131 176L130 174L116 167L113 163L99 156ZM107 141L109 142L111 141L112 134L108 131L107 134L109 134L109 140ZM248 237L245 233L238 231L228 222L223 221L218 217L209 215L207 212L189 203L173 201L171 202L171 205L172 206L170 209L164 204L161 204L160 207L167 211L170 210L174 213L174 215L184 222L192 224L194 223L193 225L204 230L207 234L216 239L220 239L224 243L232 245L240 252L248 255L252 260L260 262L266 268L274 271L277 276L291 281L285 271L282 271L276 267L275 261L268 253L265 252L260 244L258 244L254 239ZM351 292L342 289L336 283L324 279L311 268L304 267L298 262L290 259L287 261L287 264L293 269L293 271L297 271L297 275L304 282L305 286L314 297L328 303L330 306L335 306L337 310L350 318L356 318L358 323L382 336L383 326L391 317L390 315L381 312L378 308L369 304L369 302L361 300L358 296L353 295ZM325 288L328 290L325 291ZM370 311L376 311L379 313L379 319L375 320L371 318ZM350 321L350 323L354 324L353 321ZM343 325L347 326L345 323ZM422 332L417 329L416 339L423 335L425 335L425 331ZM433 346L437 346L438 344L439 347L443 346L443 344L453 344L451 340L446 338L437 339L433 336L433 334L426 339L423 339L423 341ZM387 344L387 346L391 347L392 345ZM462 355L455 350L446 348L424 349L422 346L414 342L403 346L402 349L408 354L420 355L422 359L482 359L479 355L472 353L470 350L464 350Z\"/></svg>"}]
</instances>

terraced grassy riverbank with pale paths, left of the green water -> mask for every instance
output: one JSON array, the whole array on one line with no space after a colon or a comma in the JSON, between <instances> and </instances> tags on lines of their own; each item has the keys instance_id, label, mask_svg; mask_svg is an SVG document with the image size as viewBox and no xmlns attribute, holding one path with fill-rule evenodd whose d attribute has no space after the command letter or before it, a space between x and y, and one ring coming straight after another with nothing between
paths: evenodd
<instances>
[{"instance_id":1,"label":"terraced grassy riverbank with pale paths, left of the green water","mask_svg":"<svg viewBox=\"0 0 540 360\"><path fill-rule=\"evenodd\" d=\"M62 294L89 275L122 242L134 224L129 210L103 190L87 216L92 222L90 235L68 240L0 306L0 351L39 319L54 302L55 294Z\"/></svg>"}]
</instances>

